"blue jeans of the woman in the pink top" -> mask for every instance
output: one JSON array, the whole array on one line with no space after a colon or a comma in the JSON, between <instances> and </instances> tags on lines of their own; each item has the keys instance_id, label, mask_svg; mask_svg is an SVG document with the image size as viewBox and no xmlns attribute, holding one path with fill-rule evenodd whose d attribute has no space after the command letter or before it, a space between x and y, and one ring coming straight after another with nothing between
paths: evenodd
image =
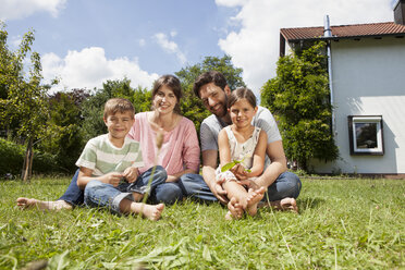
<instances>
[{"instance_id":1,"label":"blue jeans of the woman in the pink top","mask_svg":"<svg viewBox=\"0 0 405 270\"><path fill-rule=\"evenodd\" d=\"M84 204L84 191L77 186L78 170L74 174L66 192L60 197L72 206L81 206ZM162 183L156 186L155 191L149 195L149 201L152 204L174 204L176 200L183 199L183 192L179 183Z\"/></svg>"}]
</instances>

